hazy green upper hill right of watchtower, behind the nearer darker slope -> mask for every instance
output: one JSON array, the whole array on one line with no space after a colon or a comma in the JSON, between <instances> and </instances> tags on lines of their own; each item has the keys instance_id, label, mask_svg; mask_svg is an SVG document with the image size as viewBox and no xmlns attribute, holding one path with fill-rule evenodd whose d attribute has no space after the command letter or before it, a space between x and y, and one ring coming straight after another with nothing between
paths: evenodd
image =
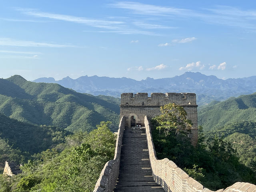
<instances>
[{"instance_id":1,"label":"hazy green upper hill right of watchtower, behind the nearer darker slope","mask_svg":"<svg viewBox=\"0 0 256 192\"><path fill-rule=\"evenodd\" d=\"M198 124L205 131L218 130L241 120L256 121L256 93L210 103L198 110Z\"/></svg>"}]
</instances>

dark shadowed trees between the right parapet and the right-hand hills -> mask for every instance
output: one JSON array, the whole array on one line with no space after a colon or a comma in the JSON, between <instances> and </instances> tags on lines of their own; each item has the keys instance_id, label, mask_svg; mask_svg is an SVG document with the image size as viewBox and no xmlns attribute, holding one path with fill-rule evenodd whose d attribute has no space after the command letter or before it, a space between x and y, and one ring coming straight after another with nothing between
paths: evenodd
<instances>
[{"instance_id":1,"label":"dark shadowed trees between the right parapet and the right-hand hills","mask_svg":"<svg viewBox=\"0 0 256 192\"><path fill-rule=\"evenodd\" d=\"M158 118L151 122L159 159L169 158L211 190L226 188L238 181L255 183L255 172L239 162L236 151L223 138L206 139L200 128L198 145L194 148L188 134L176 134L174 129L166 136L164 129L157 129L161 124Z\"/></svg>"}]
</instances>

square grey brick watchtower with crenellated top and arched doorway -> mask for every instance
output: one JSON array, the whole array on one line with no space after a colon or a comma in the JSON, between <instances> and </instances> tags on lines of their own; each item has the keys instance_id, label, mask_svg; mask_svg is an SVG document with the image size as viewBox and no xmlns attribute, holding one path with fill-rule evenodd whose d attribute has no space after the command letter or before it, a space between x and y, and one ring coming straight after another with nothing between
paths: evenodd
<instances>
[{"instance_id":1,"label":"square grey brick watchtower with crenellated top and arched doorway","mask_svg":"<svg viewBox=\"0 0 256 192\"><path fill-rule=\"evenodd\" d=\"M161 114L160 106L169 103L180 105L186 110L187 118L192 121L191 142L193 145L198 140L197 105L194 93L122 93L120 105L120 117L126 117L126 126L144 126L144 117L149 119Z\"/></svg>"}]
</instances>

